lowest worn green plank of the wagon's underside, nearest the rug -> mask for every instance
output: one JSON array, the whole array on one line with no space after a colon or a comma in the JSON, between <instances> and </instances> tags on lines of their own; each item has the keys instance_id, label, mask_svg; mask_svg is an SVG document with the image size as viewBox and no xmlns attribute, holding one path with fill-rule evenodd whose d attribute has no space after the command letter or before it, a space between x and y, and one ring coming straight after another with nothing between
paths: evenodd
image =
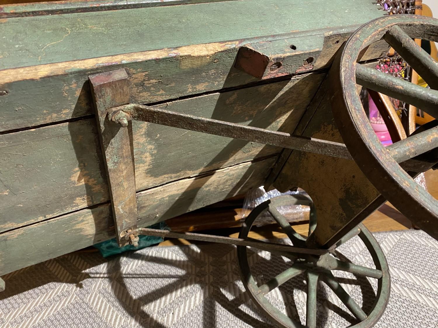
<instances>
[{"instance_id":1,"label":"lowest worn green plank of the wagon's underside, nearest the rug","mask_svg":"<svg viewBox=\"0 0 438 328\"><path fill-rule=\"evenodd\" d=\"M138 225L148 226L261 185L275 159L243 163L140 192ZM0 275L114 236L109 204L4 232L0 234Z\"/></svg>"}]
</instances>

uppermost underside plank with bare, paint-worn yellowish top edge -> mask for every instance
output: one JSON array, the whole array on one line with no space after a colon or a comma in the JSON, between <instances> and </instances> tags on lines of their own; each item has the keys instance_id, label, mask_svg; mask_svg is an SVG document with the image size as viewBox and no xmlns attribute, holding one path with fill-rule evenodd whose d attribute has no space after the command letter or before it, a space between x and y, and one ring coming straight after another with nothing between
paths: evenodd
<instances>
[{"instance_id":1,"label":"uppermost underside plank with bare, paint-worn yellowish top edge","mask_svg":"<svg viewBox=\"0 0 438 328\"><path fill-rule=\"evenodd\" d=\"M327 66L339 45L349 35L326 37L320 56L315 58L313 69ZM314 38L313 43L318 45L322 36L294 39L293 44L297 46L299 53L297 59L291 59L294 66L290 68L293 72L300 66L303 58L314 56L314 51L308 48L309 38ZM303 47L308 52L301 53L299 49ZM258 81L233 67L237 56L236 47L226 50L223 48L226 46L210 45L199 56L189 56L194 51L190 48L180 49L182 53L188 54L180 57L164 56L152 60L145 58L154 56L147 53L139 56L126 55L117 59L92 59L88 61L88 66L79 61L63 63L58 68L46 65L30 67L25 72L21 69L0 71L0 84L3 82L0 90L7 91L6 95L0 96L0 132L92 115L88 75L112 68L125 68L131 76L131 102L134 103L164 101ZM375 58L381 52L381 47L370 47L366 58ZM162 55L161 51L159 53ZM156 56L161 56L160 54ZM106 66L106 63L114 61L118 64ZM7 82L11 79L12 82Z\"/></svg>"}]
</instances>

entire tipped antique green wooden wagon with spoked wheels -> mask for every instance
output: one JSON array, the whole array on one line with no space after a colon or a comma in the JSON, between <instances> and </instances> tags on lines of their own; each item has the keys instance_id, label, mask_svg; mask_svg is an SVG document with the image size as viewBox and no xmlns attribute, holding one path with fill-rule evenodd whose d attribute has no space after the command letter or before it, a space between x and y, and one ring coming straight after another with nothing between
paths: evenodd
<instances>
[{"instance_id":1,"label":"entire tipped antique green wooden wagon with spoked wheels","mask_svg":"<svg viewBox=\"0 0 438 328\"><path fill-rule=\"evenodd\" d=\"M303 325L265 294L306 272L307 327L316 325L318 279L357 318L354 327L371 327L388 301L389 272L360 222L388 199L438 237L437 202L412 178L438 162L438 128L407 129L409 138L384 148L358 91L436 117L438 66L411 37L438 41L437 27L386 16L371 0L0 7L0 275L113 237L120 245L139 234L231 243L247 292L274 322ZM432 89L372 68L389 45ZM300 187L311 198L264 202L239 238L144 228L260 185ZM285 204L311 207L307 239L277 210ZM266 209L292 245L247 237ZM375 268L336 257L356 235ZM247 247L292 265L258 285ZM368 313L332 270L377 279Z\"/></svg>"}]
</instances>

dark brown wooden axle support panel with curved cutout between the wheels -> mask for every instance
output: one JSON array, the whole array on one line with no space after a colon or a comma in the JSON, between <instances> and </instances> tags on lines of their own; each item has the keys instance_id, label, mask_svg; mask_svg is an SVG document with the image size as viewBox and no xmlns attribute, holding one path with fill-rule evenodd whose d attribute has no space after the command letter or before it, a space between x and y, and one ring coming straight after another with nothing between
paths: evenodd
<instances>
[{"instance_id":1,"label":"dark brown wooden axle support panel with curved cutout between the wheels","mask_svg":"<svg viewBox=\"0 0 438 328\"><path fill-rule=\"evenodd\" d=\"M342 143L330 97L325 94L303 135ZM332 223L342 227L379 195L354 161L297 150L292 151L274 186L280 191L300 187L311 196L318 216L314 237L321 245L337 232Z\"/></svg>"}]
</instances>

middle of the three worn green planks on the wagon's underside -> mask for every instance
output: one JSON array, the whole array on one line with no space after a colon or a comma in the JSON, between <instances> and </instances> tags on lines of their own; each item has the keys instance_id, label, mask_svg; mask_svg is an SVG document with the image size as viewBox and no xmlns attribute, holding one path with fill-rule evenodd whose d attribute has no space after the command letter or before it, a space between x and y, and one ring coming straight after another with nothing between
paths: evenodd
<instances>
[{"instance_id":1,"label":"middle of the three worn green planks on the wagon's underside","mask_svg":"<svg viewBox=\"0 0 438 328\"><path fill-rule=\"evenodd\" d=\"M324 74L158 105L291 132ZM137 190L278 154L243 140L133 122ZM109 200L95 119L0 136L0 231ZM44 197L42 197L42 194Z\"/></svg>"}]
</instances>

